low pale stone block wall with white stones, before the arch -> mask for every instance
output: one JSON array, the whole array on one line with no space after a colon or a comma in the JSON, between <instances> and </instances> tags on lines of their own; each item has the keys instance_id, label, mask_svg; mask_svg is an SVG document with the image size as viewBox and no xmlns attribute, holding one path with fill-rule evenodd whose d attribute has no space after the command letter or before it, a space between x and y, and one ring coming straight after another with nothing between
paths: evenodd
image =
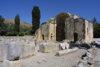
<instances>
[{"instance_id":1,"label":"low pale stone block wall with white stones, before the arch","mask_svg":"<svg viewBox=\"0 0 100 67\"><path fill-rule=\"evenodd\" d=\"M46 41L39 45L39 51L42 53L54 52L58 50L69 49L69 43L59 43L53 41Z\"/></svg>"}]
</instances>

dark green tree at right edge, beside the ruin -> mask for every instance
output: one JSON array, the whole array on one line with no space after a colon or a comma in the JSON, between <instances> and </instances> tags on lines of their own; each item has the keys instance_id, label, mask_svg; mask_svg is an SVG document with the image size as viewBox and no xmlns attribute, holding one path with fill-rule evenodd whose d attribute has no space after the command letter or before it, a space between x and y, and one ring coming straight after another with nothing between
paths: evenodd
<instances>
[{"instance_id":1,"label":"dark green tree at right edge, beside the ruin","mask_svg":"<svg viewBox=\"0 0 100 67\"><path fill-rule=\"evenodd\" d=\"M93 18L91 22L93 23L94 38L100 38L100 23L98 23L95 17Z\"/></svg>"}]
</instances>

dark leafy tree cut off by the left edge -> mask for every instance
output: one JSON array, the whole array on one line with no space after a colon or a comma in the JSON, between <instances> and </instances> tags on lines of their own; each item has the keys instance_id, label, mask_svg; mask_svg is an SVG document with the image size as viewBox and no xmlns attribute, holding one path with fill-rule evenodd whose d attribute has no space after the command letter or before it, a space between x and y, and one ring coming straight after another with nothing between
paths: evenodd
<instances>
[{"instance_id":1,"label":"dark leafy tree cut off by the left edge","mask_svg":"<svg viewBox=\"0 0 100 67\"><path fill-rule=\"evenodd\" d=\"M4 24L4 18L2 18L2 16L0 15L0 35L4 35L6 34L6 32L8 31L7 24Z\"/></svg>"}]
</instances>

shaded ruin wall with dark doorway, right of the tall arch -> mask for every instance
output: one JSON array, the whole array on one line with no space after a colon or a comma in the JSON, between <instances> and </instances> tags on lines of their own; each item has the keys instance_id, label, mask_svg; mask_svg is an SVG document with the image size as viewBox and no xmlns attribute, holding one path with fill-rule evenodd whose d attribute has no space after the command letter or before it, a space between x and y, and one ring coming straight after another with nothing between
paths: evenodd
<instances>
[{"instance_id":1,"label":"shaded ruin wall with dark doorway, right of the tall arch","mask_svg":"<svg viewBox=\"0 0 100 67\"><path fill-rule=\"evenodd\" d=\"M65 20L65 38L69 41L80 41L85 39L85 23L84 19L67 18Z\"/></svg>"}]
</instances>

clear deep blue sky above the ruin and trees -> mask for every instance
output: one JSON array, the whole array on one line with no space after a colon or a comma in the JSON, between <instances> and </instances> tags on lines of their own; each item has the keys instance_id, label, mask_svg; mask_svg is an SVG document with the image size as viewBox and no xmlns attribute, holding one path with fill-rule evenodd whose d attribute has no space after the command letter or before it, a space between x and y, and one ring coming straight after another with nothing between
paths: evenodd
<instances>
[{"instance_id":1,"label":"clear deep blue sky above the ruin and trees","mask_svg":"<svg viewBox=\"0 0 100 67\"><path fill-rule=\"evenodd\" d=\"M96 17L100 21L100 0L0 0L0 15L14 19L19 14L21 21L32 24L34 6L41 11L40 23L48 22L60 12L77 14L90 21Z\"/></svg>"}]
</instances>

